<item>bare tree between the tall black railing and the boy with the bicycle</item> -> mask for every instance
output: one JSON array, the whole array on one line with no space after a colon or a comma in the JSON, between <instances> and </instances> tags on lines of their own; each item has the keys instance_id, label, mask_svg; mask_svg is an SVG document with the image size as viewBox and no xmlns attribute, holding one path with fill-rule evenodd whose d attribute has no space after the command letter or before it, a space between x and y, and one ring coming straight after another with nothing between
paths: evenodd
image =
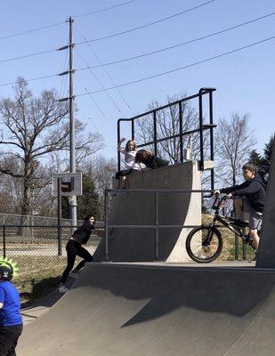
<instances>
[{"instance_id":1,"label":"bare tree between the tall black railing and the boy with the bicycle","mask_svg":"<svg viewBox=\"0 0 275 356\"><path fill-rule=\"evenodd\" d=\"M249 128L249 115L233 113L227 120L220 118L215 131L215 175L222 184L235 185L241 177L241 168L249 160L256 140Z\"/></svg>"}]
</instances>

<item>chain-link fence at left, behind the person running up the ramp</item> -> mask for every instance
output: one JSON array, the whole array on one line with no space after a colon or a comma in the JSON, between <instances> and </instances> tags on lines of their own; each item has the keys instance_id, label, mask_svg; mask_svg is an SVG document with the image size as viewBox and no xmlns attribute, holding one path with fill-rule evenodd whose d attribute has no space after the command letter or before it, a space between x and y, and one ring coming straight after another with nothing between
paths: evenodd
<instances>
[{"instance_id":1,"label":"chain-link fence at left, behind the person running up the ramp","mask_svg":"<svg viewBox=\"0 0 275 356\"><path fill-rule=\"evenodd\" d=\"M92 231L85 248L93 255L102 235L102 223ZM59 276L67 263L66 244L70 226L0 225L0 255L14 260L20 279Z\"/></svg>"}]
</instances>

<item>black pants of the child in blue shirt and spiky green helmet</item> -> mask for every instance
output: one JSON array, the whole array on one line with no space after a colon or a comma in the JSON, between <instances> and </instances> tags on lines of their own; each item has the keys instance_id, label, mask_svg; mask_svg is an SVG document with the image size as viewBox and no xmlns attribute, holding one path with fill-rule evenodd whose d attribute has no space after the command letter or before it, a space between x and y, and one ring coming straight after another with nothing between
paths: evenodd
<instances>
[{"instance_id":1,"label":"black pants of the child in blue shirt and spiky green helmet","mask_svg":"<svg viewBox=\"0 0 275 356\"><path fill-rule=\"evenodd\" d=\"M23 325L0 326L0 356L16 356L15 347L22 333Z\"/></svg>"}]
</instances>

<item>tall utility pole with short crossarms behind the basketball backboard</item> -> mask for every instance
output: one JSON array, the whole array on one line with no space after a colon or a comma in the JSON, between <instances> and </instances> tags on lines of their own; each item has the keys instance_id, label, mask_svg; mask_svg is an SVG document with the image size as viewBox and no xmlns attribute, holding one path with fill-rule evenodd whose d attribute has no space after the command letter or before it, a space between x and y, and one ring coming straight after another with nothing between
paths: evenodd
<instances>
[{"instance_id":1,"label":"tall utility pole with short crossarms behind the basketball backboard","mask_svg":"<svg viewBox=\"0 0 275 356\"><path fill-rule=\"evenodd\" d=\"M69 101L69 166L70 173L76 173L76 122L75 122L75 95L74 95L74 42L73 42L73 23L74 19L69 17L69 45L65 45L59 48L59 51L63 51L69 48L69 70L60 73L60 76L69 74L69 97L60 99L60 101ZM73 195L69 197L70 205L70 219L71 226L77 226L77 196Z\"/></svg>"}]
</instances>

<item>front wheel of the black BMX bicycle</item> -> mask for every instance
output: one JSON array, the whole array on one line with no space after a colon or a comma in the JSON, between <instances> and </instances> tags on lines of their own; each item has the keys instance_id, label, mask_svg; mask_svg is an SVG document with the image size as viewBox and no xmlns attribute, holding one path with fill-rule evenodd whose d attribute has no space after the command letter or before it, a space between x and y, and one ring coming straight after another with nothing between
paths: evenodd
<instances>
[{"instance_id":1,"label":"front wheel of the black BMX bicycle","mask_svg":"<svg viewBox=\"0 0 275 356\"><path fill-rule=\"evenodd\" d=\"M222 235L214 226L200 226L190 231L186 251L198 263L213 262L222 252Z\"/></svg>"}]
</instances>

